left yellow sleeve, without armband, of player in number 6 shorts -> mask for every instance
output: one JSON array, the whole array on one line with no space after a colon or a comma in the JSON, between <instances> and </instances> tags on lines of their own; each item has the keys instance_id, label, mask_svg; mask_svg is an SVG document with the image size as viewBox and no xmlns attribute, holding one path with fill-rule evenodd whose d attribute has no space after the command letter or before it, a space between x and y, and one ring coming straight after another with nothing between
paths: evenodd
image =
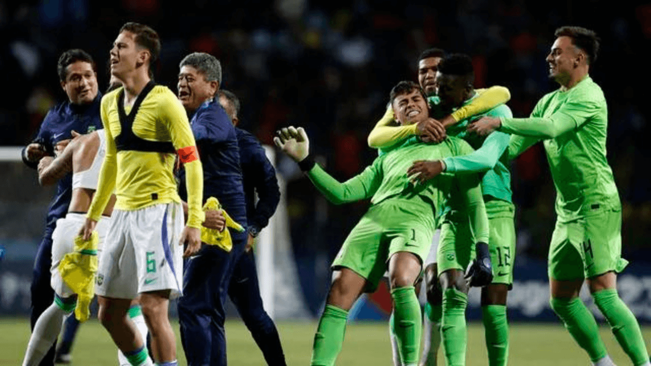
<instances>
[{"instance_id":1,"label":"left yellow sleeve, without armband, of player in number 6 shorts","mask_svg":"<svg viewBox=\"0 0 651 366\"><path fill-rule=\"evenodd\" d=\"M97 190L92 197L92 202L88 209L87 218L99 221L102 217L102 212L106 208L106 204L115 190L115 180L117 179L117 148L115 148L115 140L111 134L111 126L109 126L109 119L107 117L108 104L114 102L112 94L107 94L102 97L102 104L100 105L100 117L102 118L102 125L104 125L104 134L106 134L106 155L104 162L102 162L102 169L100 169L100 178L97 183ZM101 133L101 132L100 132Z\"/></svg>"}]
</instances>

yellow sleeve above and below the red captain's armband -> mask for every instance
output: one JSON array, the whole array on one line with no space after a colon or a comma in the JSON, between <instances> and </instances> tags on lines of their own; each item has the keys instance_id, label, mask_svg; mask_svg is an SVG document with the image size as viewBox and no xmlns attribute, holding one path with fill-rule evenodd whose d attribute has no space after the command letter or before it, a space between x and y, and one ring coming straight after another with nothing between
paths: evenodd
<instances>
[{"instance_id":1,"label":"yellow sleeve above and below the red captain's armband","mask_svg":"<svg viewBox=\"0 0 651 366\"><path fill-rule=\"evenodd\" d=\"M192 134L190 123L187 120L186 109L176 98L173 92L165 93L159 107L161 122L167 126L172 145L175 150L185 147L197 147L195 137ZM203 212L203 167L201 160L193 160L184 165L186 169L186 190L187 190L187 223L189 227L201 229L201 223L206 216Z\"/></svg>"}]
</instances>

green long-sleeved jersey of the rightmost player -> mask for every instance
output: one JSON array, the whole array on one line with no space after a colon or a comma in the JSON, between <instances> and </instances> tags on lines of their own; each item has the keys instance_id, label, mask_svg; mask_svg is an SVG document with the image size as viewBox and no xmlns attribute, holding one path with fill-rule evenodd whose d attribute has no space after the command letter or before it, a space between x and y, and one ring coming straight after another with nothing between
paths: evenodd
<instances>
[{"instance_id":1,"label":"green long-sleeved jersey of the rightmost player","mask_svg":"<svg viewBox=\"0 0 651 366\"><path fill-rule=\"evenodd\" d=\"M510 158L544 140L561 221L620 206L606 160L607 117L602 89L586 76L571 89L543 96L530 118L501 119L499 130L513 134Z\"/></svg>"}]
</instances>

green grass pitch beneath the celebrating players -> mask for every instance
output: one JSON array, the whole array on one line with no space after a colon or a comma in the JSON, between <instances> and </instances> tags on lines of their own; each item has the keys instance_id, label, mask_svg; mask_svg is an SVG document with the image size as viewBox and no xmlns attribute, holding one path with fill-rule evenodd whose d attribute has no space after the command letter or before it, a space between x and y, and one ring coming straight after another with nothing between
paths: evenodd
<instances>
[{"instance_id":1,"label":"green grass pitch beneath the celebrating players","mask_svg":"<svg viewBox=\"0 0 651 366\"><path fill-rule=\"evenodd\" d=\"M173 322L178 334L178 322ZM283 342L287 364L309 365L314 322L279 322L278 330ZM510 331L510 357L512 366L580 366L589 365L583 350L575 345L569 333L560 324L512 324ZM258 347L241 322L232 320L226 327L229 365L265 365ZM608 328L602 328L602 339L618 366L631 365ZM651 348L651 327L643 327L647 348ZM29 340L29 321L24 318L0 318L0 365L20 365ZM178 340L179 365L186 359ZM72 352L72 365L117 365L116 348L105 330L96 320L79 328ZM439 351L439 365L445 365ZM391 366L391 346L387 324L368 322L352 323L346 328L346 339L337 365ZM481 324L469 324L467 365L486 366L484 330Z\"/></svg>"}]
</instances>

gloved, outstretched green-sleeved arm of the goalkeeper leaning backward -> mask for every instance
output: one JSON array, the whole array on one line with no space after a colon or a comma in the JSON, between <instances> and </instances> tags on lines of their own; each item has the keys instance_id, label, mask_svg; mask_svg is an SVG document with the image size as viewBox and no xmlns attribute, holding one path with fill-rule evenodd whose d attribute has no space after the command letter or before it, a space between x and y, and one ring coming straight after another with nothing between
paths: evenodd
<instances>
[{"instance_id":1,"label":"gloved, outstretched green-sleeved arm of the goalkeeper leaning backward","mask_svg":"<svg viewBox=\"0 0 651 366\"><path fill-rule=\"evenodd\" d=\"M290 126L279 130L273 138L275 144L290 158L298 162L314 186L334 204L359 201L371 197L380 187L381 175L376 165L370 165L361 174L341 183L326 173L309 154L309 139L303 128Z\"/></svg>"}]
</instances>

